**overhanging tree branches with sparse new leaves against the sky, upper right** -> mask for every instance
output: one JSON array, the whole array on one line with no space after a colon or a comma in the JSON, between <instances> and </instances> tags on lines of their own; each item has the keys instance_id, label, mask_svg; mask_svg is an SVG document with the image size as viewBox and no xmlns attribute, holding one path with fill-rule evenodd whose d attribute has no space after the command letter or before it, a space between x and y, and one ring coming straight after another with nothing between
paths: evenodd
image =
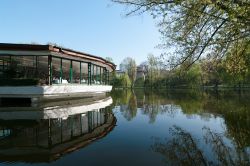
<instances>
[{"instance_id":1,"label":"overhanging tree branches with sparse new leaves against the sky, upper right","mask_svg":"<svg viewBox=\"0 0 250 166\"><path fill-rule=\"evenodd\" d=\"M238 41L250 41L248 0L112 0L132 7L127 15L150 12L159 21L162 48L174 47L175 66L200 57L223 57ZM245 46L247 46L245 45Z\"/></svg>"}]
</instances>

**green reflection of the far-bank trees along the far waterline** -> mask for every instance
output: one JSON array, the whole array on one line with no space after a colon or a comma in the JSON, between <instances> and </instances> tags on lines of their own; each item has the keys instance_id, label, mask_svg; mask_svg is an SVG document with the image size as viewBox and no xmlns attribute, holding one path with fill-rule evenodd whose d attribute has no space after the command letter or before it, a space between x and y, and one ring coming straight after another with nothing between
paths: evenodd
<instances>
[{"instance_id":1,"label":"green reflection of the far-bank trees along the far waterline","mask_svg":"<svg viewBox=\"0 0 250 166\"><path fill-rule=\"evenodd\" d=\"M220 117L226 127L225 135L233 139L239 148L250 146L250 103L249 93L235 91L220 93L204 91L114 91L113 100L120 107L122 115L132 120L137 111L147 115L149 123L164 114L171 118L184 114L188 119L197 115L203 121ZM136 108L137 107L137 108Z\"/></svg>"}]
</instances>

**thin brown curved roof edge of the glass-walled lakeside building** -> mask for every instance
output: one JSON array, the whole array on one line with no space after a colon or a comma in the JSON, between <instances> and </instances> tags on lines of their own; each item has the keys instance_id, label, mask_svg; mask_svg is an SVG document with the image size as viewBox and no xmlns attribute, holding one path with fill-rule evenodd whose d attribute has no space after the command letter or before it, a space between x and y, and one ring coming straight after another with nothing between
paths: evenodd
<instances>
[{"instance_id":1,"label":"thin brown curved roof edge of the glass-walled lakeside building","mask_svg":"<svg viewBox=\"0 0 250 166\"><path fill-rule=\"evenodd\" d=\"M110 61L107 61L106 59L91 55L88 53L75 51L68 48L63 48L59 46L55 46L52 44L47 45L40 45L40 44L12 44L12 43L0 43L0 50L11 50L11 51L52 51L52 52L58 52L62 54L67 54L70 56L75 57L81 57L88 60L97 61L100 63L104 63L108 66L110 66L112 69L116 68L116 65Z\"/></svg>"}]
</instances>

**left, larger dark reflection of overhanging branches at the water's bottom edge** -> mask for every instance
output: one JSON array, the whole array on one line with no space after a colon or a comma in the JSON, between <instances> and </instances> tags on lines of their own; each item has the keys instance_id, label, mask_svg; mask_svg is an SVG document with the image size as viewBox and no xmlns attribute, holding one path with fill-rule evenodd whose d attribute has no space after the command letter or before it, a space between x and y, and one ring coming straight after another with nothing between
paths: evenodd
<instances>
[{"instance_id":1,"label":"left, larger dark reflection of overhanging branches at the water's bottom edge","mask_svg":"<svg viewBox=\"0 0 250 166\"><path fill-rule=\"evenodd\" d=\"M207 165L202 151L188 132L174 126L170 128L170 133L173 136L170 141L163 143L154 138L152 145L153 151L166 157L164 162L171 165Z\"/></svg>"}]
</instances>

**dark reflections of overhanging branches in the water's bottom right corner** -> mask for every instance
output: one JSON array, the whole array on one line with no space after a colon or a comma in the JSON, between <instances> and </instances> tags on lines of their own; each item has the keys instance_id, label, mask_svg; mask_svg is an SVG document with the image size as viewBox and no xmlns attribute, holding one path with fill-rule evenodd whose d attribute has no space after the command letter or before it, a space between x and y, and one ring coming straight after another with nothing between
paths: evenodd
<instances>
[{"instance_id":1,"label":"dark reflections of overhanging branches in the water's bottom right corner","mask_svg":"<svg viewBox=\"0 0 250 166\"><path fill-rule=\"evenodd\" d=\"M170 128L172 138L162 142L154 138L151 149L164 156L167 165L249 165L250 152L240 150L237 145L230 147L220 133L203 127L203 141L211 147L215 160L206 157L203 149L199 148L202 140L196 140L192 135L178 126Z\"/></svg>"}]
</instances>

